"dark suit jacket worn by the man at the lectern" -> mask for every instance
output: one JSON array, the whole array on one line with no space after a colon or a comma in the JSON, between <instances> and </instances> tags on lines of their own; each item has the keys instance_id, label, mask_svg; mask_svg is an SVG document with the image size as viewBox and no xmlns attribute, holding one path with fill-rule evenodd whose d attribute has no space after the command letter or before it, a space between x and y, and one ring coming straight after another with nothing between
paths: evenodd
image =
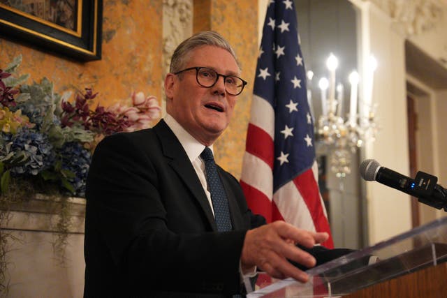
<instances>
[{"instance_id":1,"label":"dark suit jacket worn by the man at the lectern","mask_svg":"<svg viewBox=\"0 0 447 298\"><path fill-rule=\"evenodd\" d=\"M163 120L98 144L87 179L85 297L240 292L245 233L265 220L251 214L238 181L218 172L231 232L217 232L197 174Z\"/></svg>"}]
</instances>

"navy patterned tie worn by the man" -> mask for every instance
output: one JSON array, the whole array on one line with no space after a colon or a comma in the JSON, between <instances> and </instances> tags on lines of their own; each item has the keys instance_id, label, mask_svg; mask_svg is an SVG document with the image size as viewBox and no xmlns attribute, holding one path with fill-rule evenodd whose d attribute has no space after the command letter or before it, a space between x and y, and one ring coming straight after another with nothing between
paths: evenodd
<instances>
[{"instance_id":1,"label":"navy patterned tie worn by the man","mask_svg":"<svg viewBox=\"0 0 447 298\"><path fill-rule=\"evenodd\" d=\"M230 211L228 210L228 200L222 181L217 174L216 163L210 148L205 147L200 157L205 161L205 170L207 174L208 191L211 193L212 208L214 209L214 218L219 232L231 230Z\"/></svg>"}]
</instances>

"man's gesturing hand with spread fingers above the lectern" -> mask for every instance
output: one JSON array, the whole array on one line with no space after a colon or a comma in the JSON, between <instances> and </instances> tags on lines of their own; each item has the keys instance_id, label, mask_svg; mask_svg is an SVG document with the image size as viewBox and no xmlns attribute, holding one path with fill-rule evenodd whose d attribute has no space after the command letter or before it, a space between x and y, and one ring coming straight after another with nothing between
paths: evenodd
<instances>
[{"instance_id":1,"label":"man's gesturing hand with spread fingers above the lectern","mask_svg":"<svg viewBox=\"0 0 447 298\"><path fill-rule=\"evenodd\" d=\"M274 278L292 277L304 283L309 276L286 259L298 262L305 267L314 267L315 258L296 247L295 244L312 248L328 237L328 233L301 230L284 221L275 221L249 230L242 247L242 270L258 266Z\"/></svg>"}]
</instances>

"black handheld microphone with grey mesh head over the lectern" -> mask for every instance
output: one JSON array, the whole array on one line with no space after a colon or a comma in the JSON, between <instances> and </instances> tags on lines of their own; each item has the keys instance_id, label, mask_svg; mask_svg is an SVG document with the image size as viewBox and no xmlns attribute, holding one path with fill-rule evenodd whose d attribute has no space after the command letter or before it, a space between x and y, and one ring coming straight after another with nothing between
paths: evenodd
<instances>
[{"instance_id":1,"label":"black handheld microphone with grey mesh head over the lectern","mask_svg":"<svg viewBox=\"0 0 447 298\"><path fill-rule=\"evenodd\" d=\"M437 177L419 171L415 179L382 167L374 159L366 159L360 164L360 175L366 181L377 181L398 191L418 198L418 201L436 209L447 211L447 191L437 184Z\"/></svg>"}]
</instances>

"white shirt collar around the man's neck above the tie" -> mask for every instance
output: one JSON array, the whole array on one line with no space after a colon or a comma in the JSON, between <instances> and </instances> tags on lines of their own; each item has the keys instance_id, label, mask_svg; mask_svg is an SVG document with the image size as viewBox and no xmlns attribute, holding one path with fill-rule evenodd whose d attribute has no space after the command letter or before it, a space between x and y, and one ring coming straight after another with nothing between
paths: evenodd
<instances>
[{"instance_id":1,"label":"white shirt collar around the man's neck above the tie","mask_svg":"<svg viewBox=\"0 0 447 298\"><path fill-rule=\"evenodd\" d=\"M180 144L182 144L184 151L186 151L186 155L188 155L189 161L191 161L191 163L195 161L196 158L200 156L203 149L205 149L205 145L201 144L190 135L170 114L166 114L163 119L166 124L168 124L171 131L173 131ZM213 145L210 146L210 149L213 151Z\"/></svg>"}]
</instances>

